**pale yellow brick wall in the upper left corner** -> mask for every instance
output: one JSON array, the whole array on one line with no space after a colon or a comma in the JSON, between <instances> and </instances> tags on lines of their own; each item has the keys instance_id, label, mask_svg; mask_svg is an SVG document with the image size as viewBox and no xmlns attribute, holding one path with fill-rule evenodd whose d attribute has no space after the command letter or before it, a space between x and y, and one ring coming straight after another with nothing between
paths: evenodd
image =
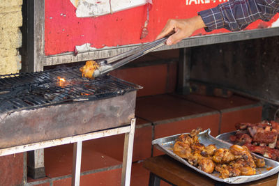
<instances>
[{"instance_id":1,"label":"pale yellow brick wall in the upper left corner","mask_svg":"<svg viewBox=\"0 0 279 186\"><path fill-rule=\"evenodd\" d=\"M0 0L0 75L21 69L22 0Z\"/></svg>"}]
</instances>

